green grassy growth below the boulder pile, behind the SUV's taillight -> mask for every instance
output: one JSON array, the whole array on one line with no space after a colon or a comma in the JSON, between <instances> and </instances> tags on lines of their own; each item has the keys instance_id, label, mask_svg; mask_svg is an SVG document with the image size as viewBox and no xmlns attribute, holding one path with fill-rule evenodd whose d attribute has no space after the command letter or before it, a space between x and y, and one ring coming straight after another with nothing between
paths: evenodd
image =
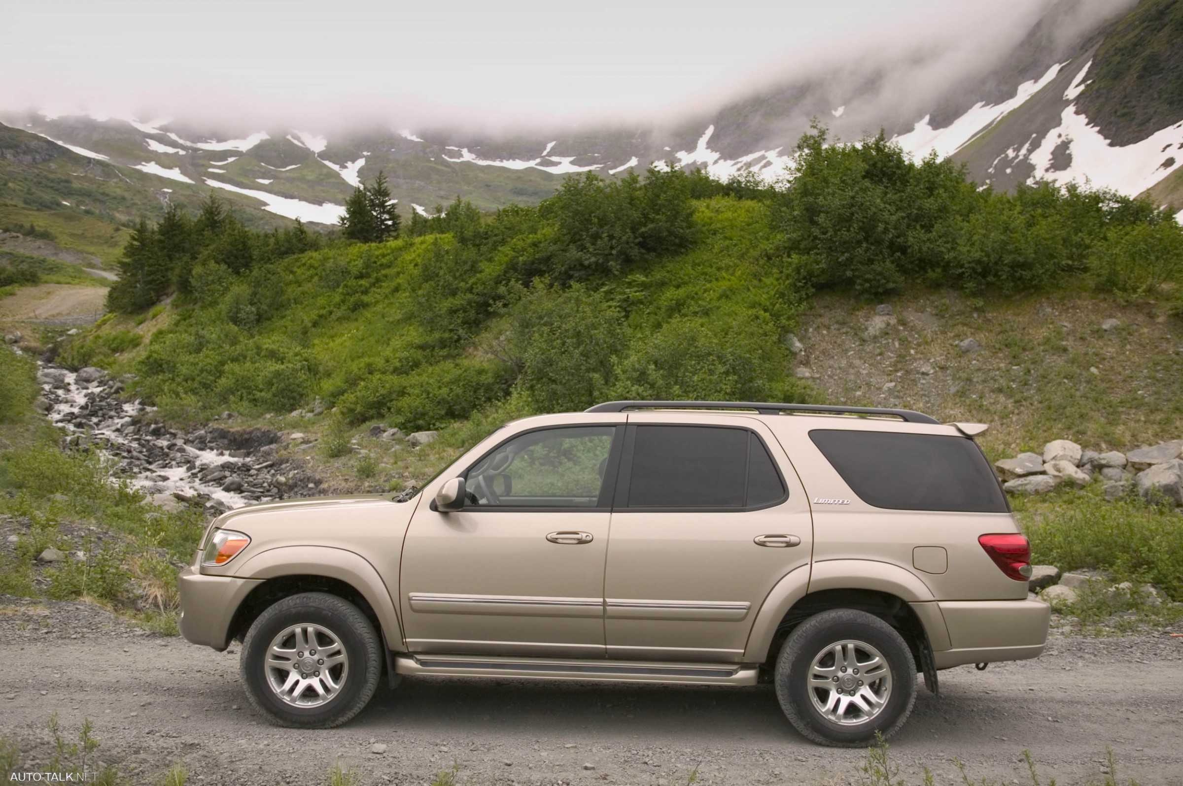
<instances>
[{"instance_id":1,"label":"green grassy growth below the boulder pile, behind the SUV's taillight","mask_svg":"<svg viewBox=\"0 0 1183 786\"><path fill-rule=\"evenodd\" d=\"M1183 517L1177 513L1139 500L1074 494L1021 519L1036 564L1107 570L1150 582L1183 602Z\"/></svg>"}]
</instances>

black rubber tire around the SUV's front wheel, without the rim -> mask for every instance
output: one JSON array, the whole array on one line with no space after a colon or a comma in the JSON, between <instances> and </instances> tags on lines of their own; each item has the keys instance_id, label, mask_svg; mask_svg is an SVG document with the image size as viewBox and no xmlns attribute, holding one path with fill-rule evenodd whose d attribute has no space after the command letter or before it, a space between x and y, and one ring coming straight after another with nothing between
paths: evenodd
<instances>
[{"instance_id":1,"label":"black rubber tire around the SUV's front wheel, without the rim","mask_svg":"<svg viewBox=\"0 0 1183 786\"><path fill-rule=\"evenodd\" d=\"M272 690L266 665L272 639L292 625L319 625L341 642L348 674L338 693L323 704L297 707ZM278 726L331 728L341 726L369 703L382 674L382 643L357 606L325 592L304 592L267 608L243 641L239 671L251 704Z\"/></svg>"}]
</instances>

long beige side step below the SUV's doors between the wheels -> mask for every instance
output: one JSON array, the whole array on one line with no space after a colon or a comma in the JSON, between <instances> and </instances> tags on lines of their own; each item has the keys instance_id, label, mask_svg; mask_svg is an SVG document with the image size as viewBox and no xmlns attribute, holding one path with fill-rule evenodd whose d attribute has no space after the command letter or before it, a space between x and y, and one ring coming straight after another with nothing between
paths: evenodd
<instances>
[{"instance_id":1,"label":"long beige side step below the SUV's doors between the wheels","mask_svg":"<svg viewBox=\"0 0 1183 786\"><path fill-rule=\"evenodd\" d=\"M394 668L399 674L406 675L707 686L754 686L758 671L758 667L735 663L651 663L406 654L394 656Z\"/></svg>"}]
</instances>

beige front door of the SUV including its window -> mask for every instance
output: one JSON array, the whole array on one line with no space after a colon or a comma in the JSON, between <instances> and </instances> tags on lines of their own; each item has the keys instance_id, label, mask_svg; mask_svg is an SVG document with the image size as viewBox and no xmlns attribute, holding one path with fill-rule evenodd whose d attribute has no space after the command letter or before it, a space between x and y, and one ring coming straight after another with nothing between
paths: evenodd
<instances>
[{"instance_id":1,"label":"beige front door of the SUV including its window","mask_svg":"<svg viewBox=\"0 0 1183 786\"><path fill-rule=\"evenodd\" d=\"M412 652L603 657L622 431L600 420L512 435L465 473L463 509L416 509L400 578Z\"/></svg>"}]
</instances>

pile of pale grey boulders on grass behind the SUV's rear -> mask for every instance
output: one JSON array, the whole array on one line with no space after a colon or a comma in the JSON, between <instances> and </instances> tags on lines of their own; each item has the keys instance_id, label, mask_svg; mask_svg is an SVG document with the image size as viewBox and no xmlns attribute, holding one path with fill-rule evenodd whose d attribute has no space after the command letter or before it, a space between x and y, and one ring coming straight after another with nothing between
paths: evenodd
<instances>
[{"instance_id":1,"label":"pile of pale grey boulders on grass behind the SUV's rear","mask_svg":"<svg viewBox=\"0 0 1183 786\"><path fill-rule=\"evenodd\" d=\"M1011 494L1043 494L1056 486L1104 483L1105 496L1140 494L1148 500L1183 506L1183 440L1129 453L1085 450L1071 440L1054 440L1043 453L1020 453L994 463Z\"/></svg>"}]
</instances>

